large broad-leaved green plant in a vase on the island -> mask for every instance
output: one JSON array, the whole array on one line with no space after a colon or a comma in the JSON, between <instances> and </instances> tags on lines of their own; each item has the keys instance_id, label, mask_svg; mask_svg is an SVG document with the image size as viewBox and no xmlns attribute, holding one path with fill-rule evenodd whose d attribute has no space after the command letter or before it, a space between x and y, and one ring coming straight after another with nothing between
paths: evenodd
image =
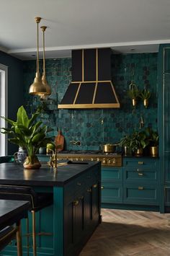
<instances>
[{"instance_id":1,"label":"large broad-leaved green plant in a vase on the island","mask_svg":"<svg viewBox=\"0 0 170 256\"><path fill-rule=\"evenodd\" d=\"M40 112L35 112L29 119L24 107L19 107L17 111L17 120L4 118L10 125L10 128L1 128L1 133L8 134L8 140L18 146L27 149L27 159L24 161L24 168L38 169L41 164L37 159L37 151L40 147L46 146L51 142L51 138L47 137L47 133L51 131L46 125L42 125L41 121L37 121Z\"/></svg>"}]
</instances>

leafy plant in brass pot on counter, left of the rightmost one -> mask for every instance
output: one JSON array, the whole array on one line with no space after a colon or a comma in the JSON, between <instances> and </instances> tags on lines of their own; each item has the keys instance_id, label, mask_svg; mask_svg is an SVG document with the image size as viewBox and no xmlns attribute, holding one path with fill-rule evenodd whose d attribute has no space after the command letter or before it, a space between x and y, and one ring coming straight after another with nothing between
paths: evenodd
<instances>
[{"instance_id":1,"label":"leafy plant in brass pot on counter, left of the rightmost one","mask_svg":"<svg viewBox=\"0 0 170 256\"><path fill-rule=\"evenodd\" d=\"M146 131L134 131L132 134L132 149L135 156L142 156L143 149L148 146L148 139L146 135Z\"/></svg>"}]
</instances>

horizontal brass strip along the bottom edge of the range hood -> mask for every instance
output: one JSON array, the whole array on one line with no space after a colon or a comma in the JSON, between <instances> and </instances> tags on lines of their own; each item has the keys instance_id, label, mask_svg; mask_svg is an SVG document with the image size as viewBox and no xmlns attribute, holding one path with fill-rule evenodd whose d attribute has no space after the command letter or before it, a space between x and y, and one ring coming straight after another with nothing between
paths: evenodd
<instances>
[{"instance_id":1,"label":"horizontal brass strip along the bottom edge of the range hood","mask_svg":"<svg viewBox=\"0 0 170 256\"><path fill-rule=\"evenodd\" d=\"M58 108L112 108L120 107L120 103L110 103L110 104L59 104Z\"/></svg>"}]
</instances>

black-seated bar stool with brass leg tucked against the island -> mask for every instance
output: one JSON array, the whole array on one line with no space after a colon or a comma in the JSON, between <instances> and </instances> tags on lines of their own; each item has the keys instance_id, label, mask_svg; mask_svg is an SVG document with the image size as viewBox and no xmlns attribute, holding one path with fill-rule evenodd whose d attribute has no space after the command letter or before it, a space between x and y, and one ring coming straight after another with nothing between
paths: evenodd
<instances>
[{"instance_id":1,"label":"black-seated bar stool with brass leg tucked against the island","mask_svg":"<svg viewBox=\"0 0 170 256\"><path fill-rule=\"evenodd\" d=\"M36 193L32 187L17 185L0 185L0 199L30 201L32 212L33 255L37 255L35 212L53 204L53 193Z\"/></svg>"}]
</instances>

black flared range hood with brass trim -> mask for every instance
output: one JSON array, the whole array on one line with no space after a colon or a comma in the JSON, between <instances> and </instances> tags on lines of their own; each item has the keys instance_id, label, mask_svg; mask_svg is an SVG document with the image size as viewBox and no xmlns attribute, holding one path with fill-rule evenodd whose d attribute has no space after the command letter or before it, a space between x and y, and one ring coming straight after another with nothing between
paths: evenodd
<instances>
[{"instance_id":1,"label":"black flared range hood with brass trim","mask_svg":"<svg viewBox=\"0 0 170 256\"><path fill-rule=\"evenodd\" d=\"M111 49L72 50L72 81L58 108L120 107L111 81Z\"/></svg>"}]
</instances>

